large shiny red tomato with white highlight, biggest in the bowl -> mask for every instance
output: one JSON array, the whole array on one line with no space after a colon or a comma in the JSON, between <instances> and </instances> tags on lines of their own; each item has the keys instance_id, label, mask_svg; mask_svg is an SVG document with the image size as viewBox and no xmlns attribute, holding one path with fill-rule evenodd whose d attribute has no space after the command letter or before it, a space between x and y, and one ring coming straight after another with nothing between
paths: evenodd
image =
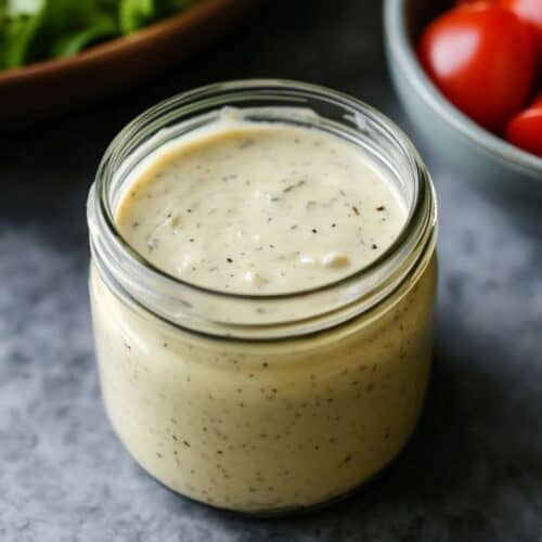
<instances>
[{"instance_id":1,"label":"large shiny red tomato with white highlight, biggest in the bowl","mask_svg":"<svg viewBox=\"0 0 542 542\"><path fill-rule=\"evenodd\" d=\"M531 90L532 37L498 5L475 3L439 16L424 30L418 55L442 93L489 130L504 128Z\"/></svg>"}]
</instances>

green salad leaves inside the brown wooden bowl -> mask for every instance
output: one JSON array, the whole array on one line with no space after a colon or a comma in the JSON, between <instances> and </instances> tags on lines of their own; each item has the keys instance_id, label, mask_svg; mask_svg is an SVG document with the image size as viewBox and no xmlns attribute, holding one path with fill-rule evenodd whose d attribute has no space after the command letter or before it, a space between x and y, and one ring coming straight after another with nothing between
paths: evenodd
<instances>
[{"instance_id":1,"label":"green salad leaves inside the brown wooden bowl","mask_svg":"<svg viewBox=\"0 0 542 542\"><path fill-rule=\"evenodd\" d=\"M198 0L0 0L0 69L70 56Z\"/></svg>"}]
</instances>

